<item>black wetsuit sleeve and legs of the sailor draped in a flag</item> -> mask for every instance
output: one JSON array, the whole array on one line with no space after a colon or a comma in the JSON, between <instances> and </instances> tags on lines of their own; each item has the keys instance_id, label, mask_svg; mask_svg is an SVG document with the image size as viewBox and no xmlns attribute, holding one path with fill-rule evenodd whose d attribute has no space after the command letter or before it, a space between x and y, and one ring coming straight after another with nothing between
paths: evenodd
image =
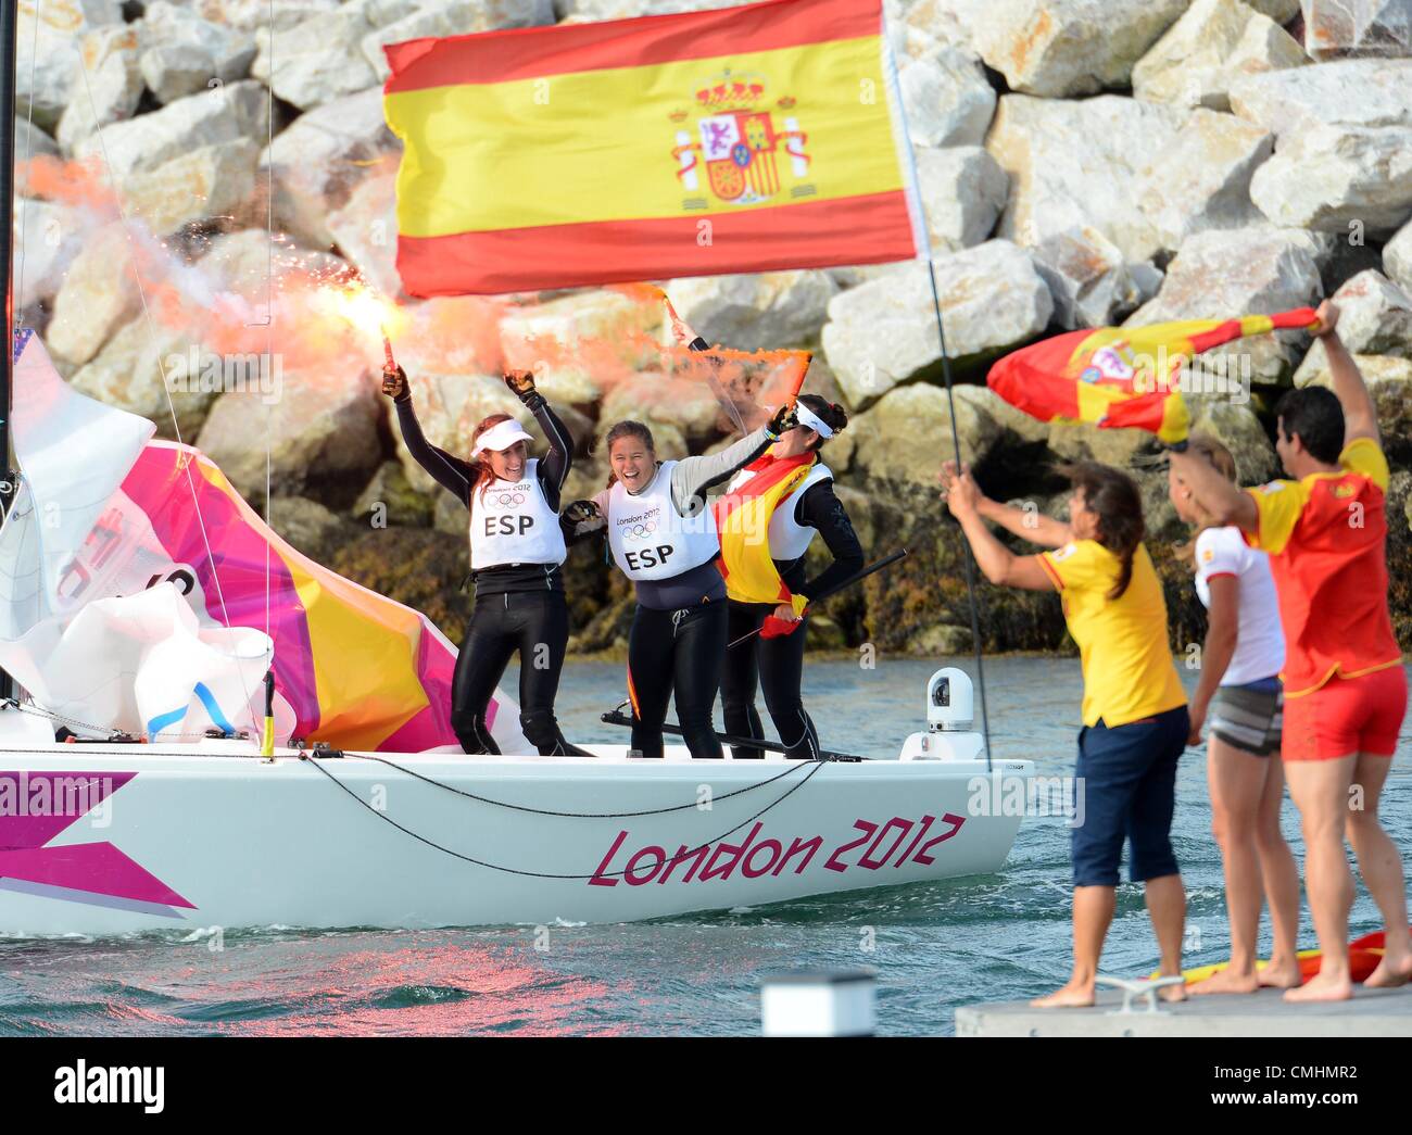
<instances>
[{"instance_id":1,"label":"black wetsuit sleeve and legs of the sailor draped in a flag","mask_svg":"<svg viewBox=\"0 0 1412 1135\"><path fill-rule=\"evenodd\" d=\"M816 528L833 563L813 579L805 579L803 556L792 562L775 560L781 580L792 594L810 596L827 591L836 583L851 576L863 566L863 545L843 503L833 493L833 480L822 480L809 486L798 500L785 500L781 507L795 510L795 520ZM758 630L765 615L775 610L772 603L730 601L729 642ZM764 687L765 707L775 723L779 740L789 750L789 757L806 759L819 755L819 733L813 720L805 713L799 685L803 676L805 635L809 631L809 617L801 625L778 638L754 635L726 652L726 679L722 686L722 703L726 716L726 733L734 737L765 738L765 730L755 710L755 683ZM762 757L758 748L734 745L736 759Z\"/></svg>"}]
</instances>

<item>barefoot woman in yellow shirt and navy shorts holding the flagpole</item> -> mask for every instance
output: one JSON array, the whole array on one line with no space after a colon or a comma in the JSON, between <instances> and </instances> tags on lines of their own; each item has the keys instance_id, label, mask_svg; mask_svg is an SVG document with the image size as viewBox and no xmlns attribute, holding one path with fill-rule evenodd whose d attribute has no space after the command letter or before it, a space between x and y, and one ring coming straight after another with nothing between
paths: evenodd
<instances>
[{"instance_id":1,"label":"barefoot woman in yellow shirt and navy shorts holding the flagpole","mask_svg":"<svg viewBox=\"0 0 1412 1135\"><path fill-rule=\"evenodd\" d=\"M1142 498L1131 477L1103 464L1080 462L1065 473L1073 484L1067 524L990 500L955 462L942 472L946 504L986 579L1059 591L1079 644L1083 728L1075 782L1084 793L1084 820L1070 829L1073 971L1063 988L1031 1002L1038 1008L1093 1004L1124 841L1128 878L1145 885L1163 975L1182 971L1186 922L1171 831L1176 764L1190 724L1168 645L1166 600L1142 545ZM986 521L1051 551L1017 556ZM1178 985L1163 997L1175 1001L1185 992Z\"/></svg>"}]
</instances>

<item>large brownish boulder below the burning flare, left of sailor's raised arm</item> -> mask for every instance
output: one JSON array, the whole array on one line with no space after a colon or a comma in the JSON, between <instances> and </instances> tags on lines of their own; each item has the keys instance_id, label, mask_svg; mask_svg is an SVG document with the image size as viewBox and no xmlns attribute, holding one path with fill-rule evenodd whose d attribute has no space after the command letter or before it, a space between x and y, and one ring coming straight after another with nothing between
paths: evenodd
<instances>
[{"instance_id":1,"label":"large brownish boulder below the burning flare, left of sailor's raised arm","mask_svg":"<svg viewBox=\"0 0 1412 1135\"><path fill-rule=\"evenodd\" d=\"M278 387L273 404L256 392L222 394L198 445L246 497L264 498L268 448L275 494L352 504L381 460L373 376L281 368Z\"/></svg>"}]
</instances>

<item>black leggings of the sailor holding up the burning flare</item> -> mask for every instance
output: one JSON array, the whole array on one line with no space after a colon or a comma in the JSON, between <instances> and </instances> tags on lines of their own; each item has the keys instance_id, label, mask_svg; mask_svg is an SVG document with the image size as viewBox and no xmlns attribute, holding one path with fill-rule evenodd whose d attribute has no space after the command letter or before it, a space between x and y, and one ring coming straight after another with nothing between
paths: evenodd
<instances>
[{"instance_id":1,"label":"black leggings of the sailor holding up the burning flare","mask_svg":"<svg viewBox=\"0 0 1412 1135\"><path fill-rule=\"evenodd\" d=\"M520 728L541 755L578 754L554 720L569 607L563 591L510 591L476 596L466 639L452 678L450 727L466 752L500 752L486 723L486 709L520 654Z\"/></svg>"}]
</instances>

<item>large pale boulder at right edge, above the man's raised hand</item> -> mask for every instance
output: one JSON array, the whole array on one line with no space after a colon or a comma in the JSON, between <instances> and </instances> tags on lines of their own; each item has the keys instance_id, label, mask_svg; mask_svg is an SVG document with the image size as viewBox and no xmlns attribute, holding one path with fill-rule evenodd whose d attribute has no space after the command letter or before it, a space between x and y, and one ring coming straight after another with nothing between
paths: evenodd
<instances>
[{"instance_id":1,"label":"large pale boulder at right edge, above the man's raised hand","mask_svg":"<svg viewBox=\"0 0 1412 1135\"><path fill-rule=\"evenodd\" d=\"M1412 126L1285 136L1251 178L1250 196L1279 226L1387 236L1412 216Z\"/></svg>"}]
</instances>

